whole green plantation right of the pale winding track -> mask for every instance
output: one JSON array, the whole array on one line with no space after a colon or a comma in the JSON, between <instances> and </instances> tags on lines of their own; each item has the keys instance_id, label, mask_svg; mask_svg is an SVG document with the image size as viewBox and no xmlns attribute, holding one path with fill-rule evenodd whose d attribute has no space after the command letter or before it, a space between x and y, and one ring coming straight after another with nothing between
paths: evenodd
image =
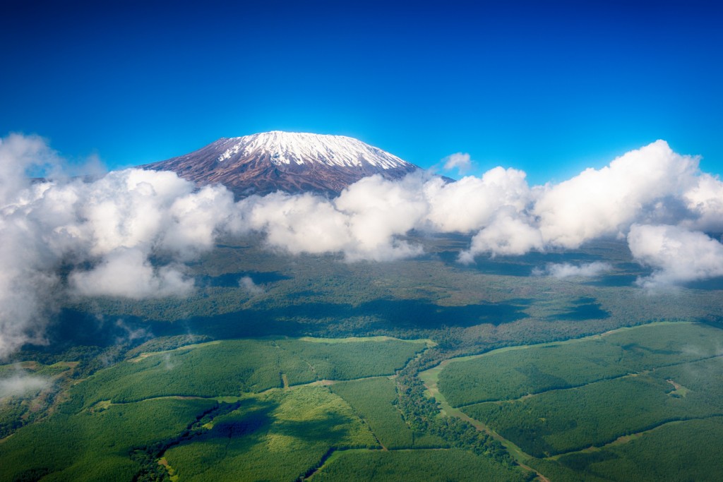
<instances>
[{"instance_id":1,"label":"whole green plantation right of the pale winding track","mask_svg":"<svg viewBox=\"0 0 723 482\"><path fill-rule=\"evenodd\" d=\"M491 384L489 377L499 373L507 400L466 405L463 412L538 457L529 465L552 478L719 480L723 472L709 462L723 450L722 439L714 436L723 415L721 346L723 332L716 328L650 324L450 361L438 387L445 396L445 387L453 387L456 400L474 400L490 392L479 381ZM619 374L601 377L599 366L617 367ZM521 368L558 376L570 387L538 384L536 395L518 398L532 391L534 380L545 379L514 378ZM475 382L450 384L462 374ZM704 446L693 443L696 431L707 441ZM696 451L703 453L693 455ZM662 463L654 470L656 461Z\"/></svg>"}]
</instances>

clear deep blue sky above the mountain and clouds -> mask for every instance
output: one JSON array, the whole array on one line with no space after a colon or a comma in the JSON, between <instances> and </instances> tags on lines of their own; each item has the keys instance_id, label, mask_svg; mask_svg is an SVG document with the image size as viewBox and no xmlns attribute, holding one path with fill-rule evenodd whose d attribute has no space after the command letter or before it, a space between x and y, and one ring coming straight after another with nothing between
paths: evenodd
<instances>
[{"instance_id":1,"label":"clear deep blue sky above the mountain and clouds","mask_svg":"<svg viewBox=\"0 0 723 482\"><path fill-rule=\"evenodd\" d=\"M716 2L5 2L0 136L111 168L269 130L560 181L656 139L723 173Z\"/></svg>"}]
</instances>

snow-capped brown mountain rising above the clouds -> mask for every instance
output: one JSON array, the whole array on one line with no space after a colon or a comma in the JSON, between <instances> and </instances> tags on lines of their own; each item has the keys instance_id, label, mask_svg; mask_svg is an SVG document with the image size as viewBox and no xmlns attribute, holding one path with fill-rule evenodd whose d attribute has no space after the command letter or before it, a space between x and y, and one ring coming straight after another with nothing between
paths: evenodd
<instances>
[{"instance_id":1,"label":"snow-capped brown mountain rising above the clouds","mask_svg":"<svg viewBox=\"0 0 723 482\"><path fill-rule=\"evenodd\" d=\"M396 179L420 169L352 137L280 131L222 137L189 154L141 167L174 171L200 185L221 183L237 197L273 191L335 195L366 176Z\"/></svg>"}]
</instances>

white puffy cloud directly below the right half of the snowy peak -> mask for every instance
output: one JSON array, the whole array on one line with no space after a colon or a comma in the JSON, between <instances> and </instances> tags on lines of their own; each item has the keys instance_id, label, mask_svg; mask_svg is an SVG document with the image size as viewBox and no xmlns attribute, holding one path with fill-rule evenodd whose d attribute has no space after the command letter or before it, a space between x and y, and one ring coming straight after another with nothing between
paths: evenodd
<instances>
[{"instance_id":1,"label":"white puffy cloud directly below the right half of the snowy peak","mask_svg":"<svg viewBox=\"0 0 723 482\"><path fill-rule=\"evenodd\" d=\"M395 182L371 176L337 199L277 192L244 199L238 210L244 229L266 233L274 248L292 254L338 252L348 261L385 261L421 253L419 246L399 238L427 212L418 186L414 178Z\"/></svg>"}]
</instances>

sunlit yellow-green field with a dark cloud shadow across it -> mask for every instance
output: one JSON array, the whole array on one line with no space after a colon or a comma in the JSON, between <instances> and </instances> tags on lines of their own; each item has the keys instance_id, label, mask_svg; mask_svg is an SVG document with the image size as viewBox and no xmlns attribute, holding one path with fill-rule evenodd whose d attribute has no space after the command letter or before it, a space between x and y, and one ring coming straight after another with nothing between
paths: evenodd
<instances>
[{"instance_id":1,"label":"sunlit yellow-green field with a dark cloud shadow across it","mask_svg":"<svg viewBox=\"0 0 723 482\"><path fill-rule=\"evenodd\" d=\"M336 447L379 445L341 398L298 387L254 397L165 457L180 480L293 481Z\"/></svg>"}]
</instances>

